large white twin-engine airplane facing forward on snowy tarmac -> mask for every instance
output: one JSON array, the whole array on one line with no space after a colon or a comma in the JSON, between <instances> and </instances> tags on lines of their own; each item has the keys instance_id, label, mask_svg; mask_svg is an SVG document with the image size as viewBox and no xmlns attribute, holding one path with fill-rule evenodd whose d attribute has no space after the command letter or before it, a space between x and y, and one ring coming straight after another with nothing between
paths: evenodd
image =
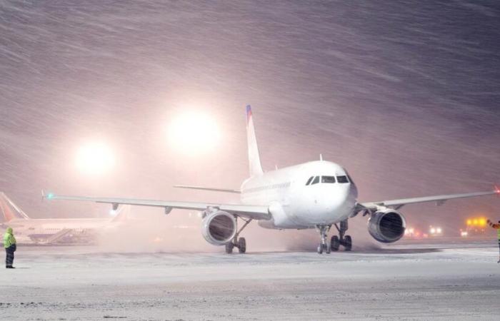
<instances>
[{"instance_id":1,"label":"large white twin-engine airplane facing forward on snowy tarmac","mask_svg":"<svg viewBox=\"0 0 500 321\"><path fill-rule=\"evenodd\" d=\"M301 163L286 168L264 172L259 156L254 120L250 106L246 106L246 132L250 177L239 189L210 188L203 186L175 185L176 188L212 190L238 193L241 203L199 203L168 200L145 200L133 198L98 198L88 196L45 194L48 200L79 200L108 203L116 209L119 205L139 205L164 208L165 214L172 209L199 210L202 212L201 233L212 245L224 245L226 253L238 248L246 252L246 240L241 232L252 220L259 226L270 229L316 228L319 232L319 254L339 250L350 251L352 238L346 235L348 220L359 213L368 215L368 232L381 243L399 240L406 229L406 220L399 209L404 205L471 198L481 195L500 195L499 188L485 192L451 195L434 195L419 198L359 202L358 189L344 167L330 161ZM241 220L241 227L238 222ZM327 239L334 226L338 235Z\"/></svg>"}]
</instances>

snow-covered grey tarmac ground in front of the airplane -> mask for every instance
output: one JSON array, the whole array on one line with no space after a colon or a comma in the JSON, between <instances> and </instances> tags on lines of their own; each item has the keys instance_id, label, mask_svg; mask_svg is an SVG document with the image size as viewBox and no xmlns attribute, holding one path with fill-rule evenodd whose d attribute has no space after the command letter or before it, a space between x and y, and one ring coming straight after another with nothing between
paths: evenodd
<instances>
[{"instance_id":1,"label":"snow-covered grey tarmac ground in front of the airplane","mask_svg":"<svg viewBox=\"0 0 500 321\"><path fill-rule=\"evenodd\" d=\"M498 320L498 248L118 254L20 248L0 273L5 320Z\"/></svg>"}]
</instances>

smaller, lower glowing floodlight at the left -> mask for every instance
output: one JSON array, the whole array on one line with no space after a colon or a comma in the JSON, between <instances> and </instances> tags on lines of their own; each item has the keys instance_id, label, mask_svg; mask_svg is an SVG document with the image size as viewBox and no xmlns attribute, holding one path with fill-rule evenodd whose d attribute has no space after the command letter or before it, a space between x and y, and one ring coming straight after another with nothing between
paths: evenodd
<instances>
[{"instance_id":1,"label":"smaller, lower glowing floodlight at the left","mask_svg":"<svg viewBox=\"0 0 500 321\"><path fill-rule=\"evenodd\" d=\"M76 153L76 166L89 175L99 175L111 170L114 156L104 143L88 143Z\"/></svg>"}]
</instances>

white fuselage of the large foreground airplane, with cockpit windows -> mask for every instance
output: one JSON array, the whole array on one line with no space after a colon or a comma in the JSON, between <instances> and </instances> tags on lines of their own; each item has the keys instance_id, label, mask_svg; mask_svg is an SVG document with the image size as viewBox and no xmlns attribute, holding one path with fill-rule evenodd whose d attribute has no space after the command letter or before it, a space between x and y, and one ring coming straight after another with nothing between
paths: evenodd
<instances>
[{"instance_id":1,"label":"white fuselage of the large foreground airplane, with cockpit windows","mask_svg":"<svg viewBox=\"0 0 500 321\"><path fill-rule=\"evenodd\" d=\"M308 180L318 177L318 182ZM334 183L321 178L335 178ZM269 205L273 220L261 220L263 228L314 228L346 220L354 213L358 190L346 170L329 161L312 161L254 175L241 184L241 203Z\"/></svg>"}]
</instances>

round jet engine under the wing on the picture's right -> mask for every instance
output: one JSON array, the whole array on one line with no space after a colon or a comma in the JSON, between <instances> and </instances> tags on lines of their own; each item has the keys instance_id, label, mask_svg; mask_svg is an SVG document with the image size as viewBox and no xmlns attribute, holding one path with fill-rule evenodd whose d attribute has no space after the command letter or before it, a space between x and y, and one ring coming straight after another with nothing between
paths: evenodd
<instances>
[{"instance_id":1,"label":"round jet engine under the wing on the picture's right","mask_svg":"<svg viewBox=\"0 0 500 321\"><path fill-rule=\"evenodd\" d=\"M368 232L375 240L382 243L393 243L404 235L406 220L396 210L386 208L371 215L368 220Z\"/></svg>"}]
</instances>

